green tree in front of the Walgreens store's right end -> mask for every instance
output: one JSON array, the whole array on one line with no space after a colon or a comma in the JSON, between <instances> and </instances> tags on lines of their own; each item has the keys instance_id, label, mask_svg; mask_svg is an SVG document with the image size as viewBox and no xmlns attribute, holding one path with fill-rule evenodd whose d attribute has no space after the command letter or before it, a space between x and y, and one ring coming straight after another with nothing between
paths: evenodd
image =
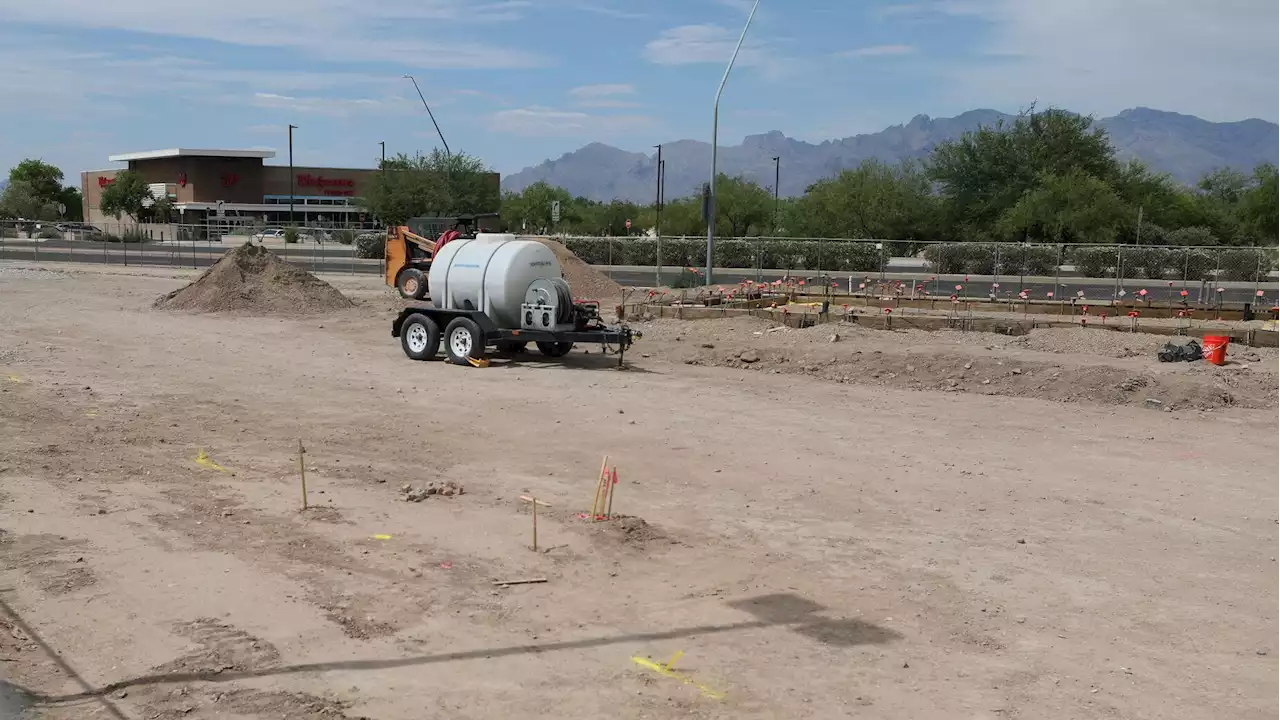
<instances>
[{"instance_id":1,"label":"green tree in front of the Walgreens store's right end","mask_svg":"<svg viewBox=\"0 0 1280 720\"><path fill-rule=\"evenodd\" d=\"M389 158L360 205L389 225L410 218L498 211L499 191L489 168L465 152Z\"/></svg>"}]
</instances>

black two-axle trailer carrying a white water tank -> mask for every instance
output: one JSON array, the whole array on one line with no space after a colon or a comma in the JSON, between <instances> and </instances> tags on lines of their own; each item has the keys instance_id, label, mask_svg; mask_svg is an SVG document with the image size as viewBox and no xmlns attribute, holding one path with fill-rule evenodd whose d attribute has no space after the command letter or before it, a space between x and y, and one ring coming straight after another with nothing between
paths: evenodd
<instances>
[{"instance_id":1,"label":"black two-axle trailer carrying a white water tank","mask_svg":"<svg viewBox=\"0 0 1280 720\"><path fill-rule=\"evenodd\" d=\"M605 325L596 301L575 301L552 249L513 234L454 240L431 261L430 305L403 309L392 324L404 355L476 365L490 347L521 352L532 342L548 357L575 343L616 346L618 364L639 332Z\"/></svg>"}]
</instances>

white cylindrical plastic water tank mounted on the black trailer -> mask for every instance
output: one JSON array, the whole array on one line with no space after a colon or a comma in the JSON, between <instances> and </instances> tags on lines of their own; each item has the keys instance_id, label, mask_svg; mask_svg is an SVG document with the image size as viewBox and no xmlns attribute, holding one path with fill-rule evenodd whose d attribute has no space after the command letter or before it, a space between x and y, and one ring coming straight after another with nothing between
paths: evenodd
<instances>
[{"instance_id":1,"label":"white cylindrical plastic water tank mounted on the black trailer","mask_svg":"<svg viewBox=\"0 0 1280 720\"><path fill-rule=\"evenodd\" d=\"M539 278L559 278L556 254L536 240L480 233L454 240L431 259L428 287L442 310L480 310L504 329L518 329L525 292Z\"/></svg>"}]
</instances>

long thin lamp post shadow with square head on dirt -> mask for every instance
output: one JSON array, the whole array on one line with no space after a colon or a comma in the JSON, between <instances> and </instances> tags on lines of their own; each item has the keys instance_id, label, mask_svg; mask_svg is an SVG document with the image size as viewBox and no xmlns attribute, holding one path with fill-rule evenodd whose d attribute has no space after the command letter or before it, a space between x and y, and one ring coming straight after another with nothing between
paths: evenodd
<instances>
[{"instance_id":1,"label":"long thin lamp post shadow with square head on dirt","mask_svg":"<svg viewBox=\"0 0 1280 720\"><path fill-rule=\"evenodd\" d=\"M684 639L698 635L718 633L731 633L737 630L753 630L760 628L787 628L800 635L818 641L823 644L837 647L855 647L863 644L886 644L899 639L901 635L887 628L881 628L861 620L828 619L819 615L826 609L813 601L790 593L769 594L748 598L728 603L731 607L755 616L755 620L745 623L731 623L721 625L699 625L692 628L677 628L655 633L634 633L613 635L605 638L586 638L579 641L563 641L539 644L521 644L497 648L467 650L458 652L444 652L438 655L421 655L415 657L399 657L392 660L340 660L334 662L307 662L300 665L287 665L276 667L261 667L243 671L223 673L169 673L145 675L119 683L111 683L101 688L88 689L82 693L65 696L36 696L32 701L37 705L59 705L83 701L87 698L102 698L127 688L145 685L163 685L175 683L228 683L234 680L247 680L255 678L270 678L279 675L296 675L305 673L325 671L361 671L361 670L388 670L394 667L412 667L419 665L433 665L438 662L457 662L463 660L490 660L494 657L507 657L516 655L536 655L544 652L557 652L566 650L585 650L593 647L605 647L613 644L635 644L644 642L658 642L671 639ZM4 610L9 610L5 607Z\"/></svg>"}]
</instances>

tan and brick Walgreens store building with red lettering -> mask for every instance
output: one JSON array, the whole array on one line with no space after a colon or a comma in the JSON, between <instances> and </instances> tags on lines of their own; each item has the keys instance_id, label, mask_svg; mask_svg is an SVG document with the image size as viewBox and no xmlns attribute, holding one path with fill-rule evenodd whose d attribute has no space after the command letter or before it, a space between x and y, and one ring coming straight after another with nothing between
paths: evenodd
<instances>
[{"instance_id":1,"label":"tan and brick Walgreens store building with red lettering","mask_svg":"<svg viewBox=\"0 0 1280 720\"><path fill-rule=\"evenodd\" d=\"M125 152L108 158L127 163L142 176L151 193L173 202L178 223L202 223L224 215L247 224L285 224L289 199L293 220L301 225L364 224L365 214L356 199L378 170L353 168L300 168L268 165L270 150L191 150L172 149ZM84 193L84 220L115 220L99 210L102 190L115 181L120 169L81 173Z\"/></svg>"}]
</instances>

